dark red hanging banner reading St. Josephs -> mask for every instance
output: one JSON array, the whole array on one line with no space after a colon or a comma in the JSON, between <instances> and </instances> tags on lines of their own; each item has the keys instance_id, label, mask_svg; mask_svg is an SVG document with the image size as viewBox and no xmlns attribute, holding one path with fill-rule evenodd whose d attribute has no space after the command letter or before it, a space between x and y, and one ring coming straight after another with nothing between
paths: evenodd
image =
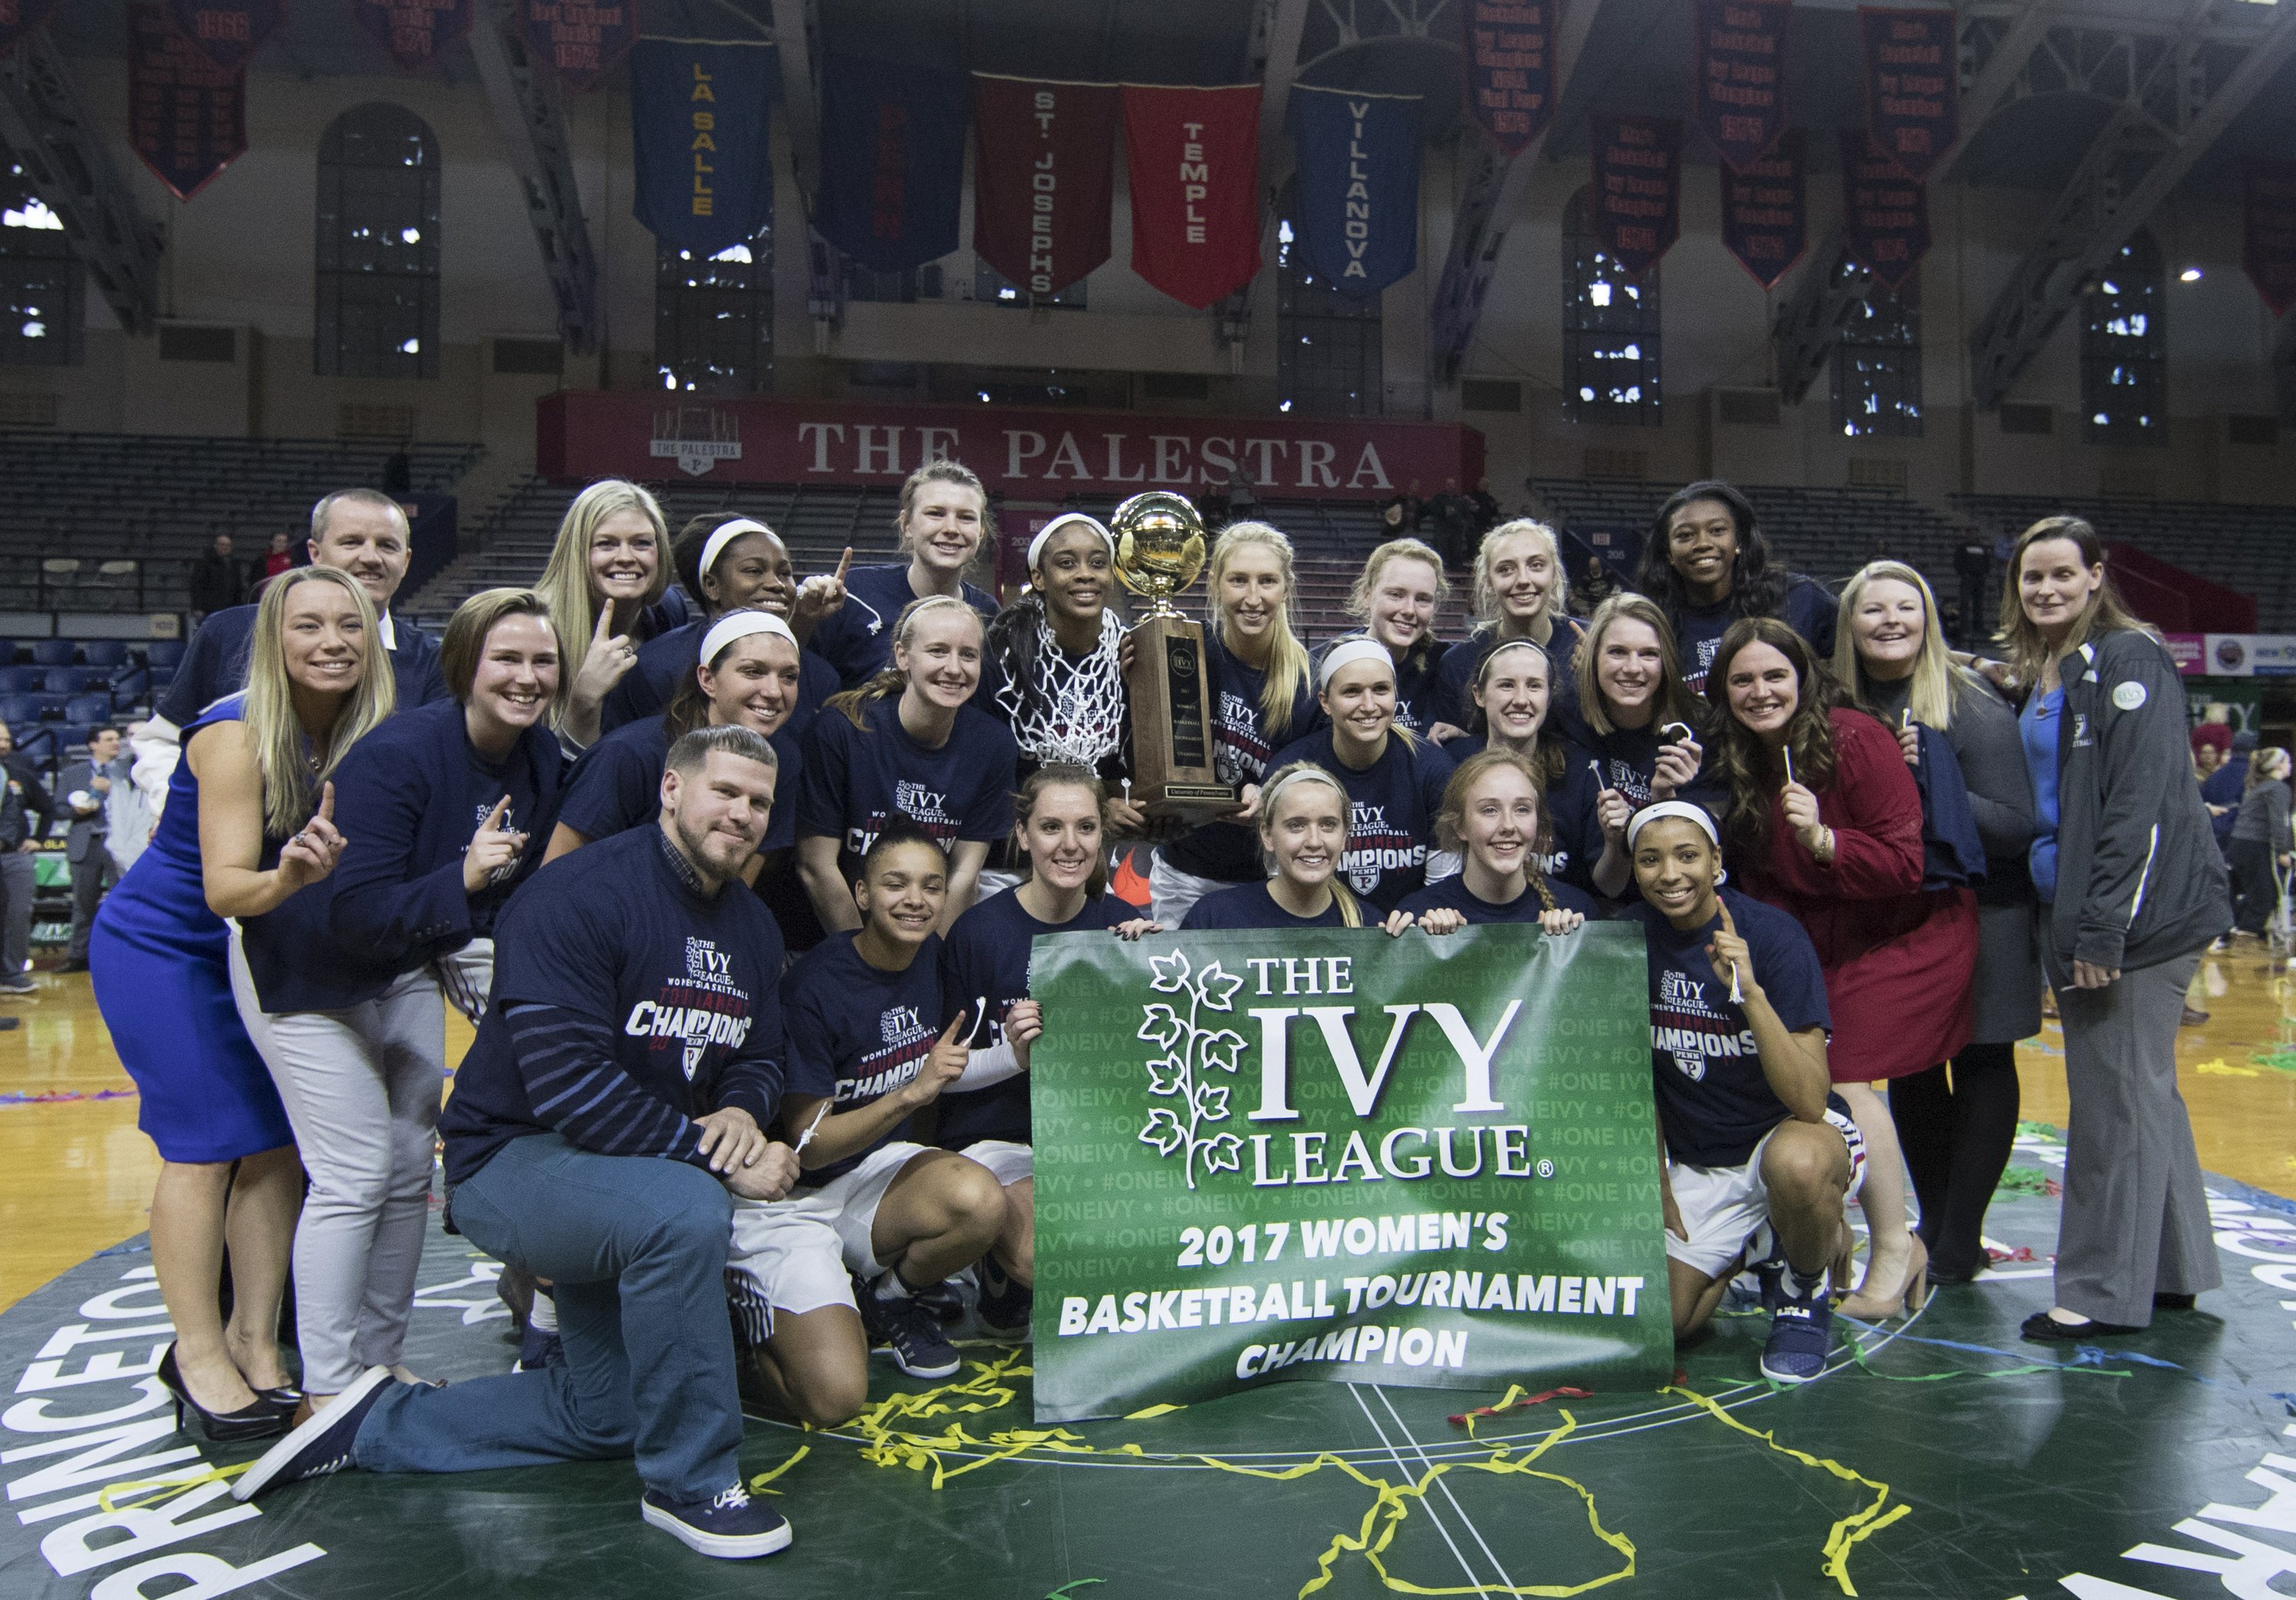
<instances>
[{"instance_id":1,"label":"dark red hanging banner reading St. Josephs","mask_svg":"<svg viewBox=\"0 0 2296 1600\"><path fill-rule=\"evenodd\" d=\"M1116 85L974 73L974 250L1029 294L1109 259Z\"/></svg>"}]
</instances>

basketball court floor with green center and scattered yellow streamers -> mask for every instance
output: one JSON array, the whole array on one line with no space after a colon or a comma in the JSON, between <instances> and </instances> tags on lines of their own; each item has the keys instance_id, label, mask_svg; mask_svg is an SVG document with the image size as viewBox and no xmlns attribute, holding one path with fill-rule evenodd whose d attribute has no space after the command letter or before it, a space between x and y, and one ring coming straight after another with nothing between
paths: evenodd
<instances>
[{"instance_id":1,"label":"basketball court floor with green center and scattered yellow streamers","mask_svg":"<svg viewBox=\"0 0 2296 1600\"><path fill-rule=\"evenodd\" d=\"M253 1451L170 1437L140 1230L154 1155L85 976L0 1033L0 1595L2296 1595L2296 976L2211 957L2179 1067L2225 1290L2096 1347L2048 1304L2064 1086L2020 1051L2030 1129L1988 1219L2011 1258L1773 1393L1724 1315L1639 1393L1274 1384L1040 1430L1026 1347L948 1384L882 1357L859 1423L753 1416L744 1469L797 1529L762 1563L638 1524L627 1462L344 1474L234 1508ZM450 1042L459 1054L461 1040ZM503 1370L494 1263L432 1233L409 1364ZM1456 1421L1474 1403L1515 1405ZM1525 1403L1529 1400L1529 1403Z\"/></svg>"}]
</instances>

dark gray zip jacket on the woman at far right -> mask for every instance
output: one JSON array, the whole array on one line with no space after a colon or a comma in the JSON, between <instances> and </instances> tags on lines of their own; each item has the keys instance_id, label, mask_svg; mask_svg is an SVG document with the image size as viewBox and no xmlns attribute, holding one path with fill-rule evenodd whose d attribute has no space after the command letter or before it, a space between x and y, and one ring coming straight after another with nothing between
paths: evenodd
<instances>
[{"instance_id":1,"label":"dark gray zip jacket on the woman at far right","mask_svg":"<svg viewBox=\"0 0 2296 1600\"><path fill-rule=\"evenodd\" d=\"M2177 663L2151 634L2122 629L2060 673L2050 966L2190 955L2232 927L2232 891L2193 780Z\"/></svg>"}]
</instances>

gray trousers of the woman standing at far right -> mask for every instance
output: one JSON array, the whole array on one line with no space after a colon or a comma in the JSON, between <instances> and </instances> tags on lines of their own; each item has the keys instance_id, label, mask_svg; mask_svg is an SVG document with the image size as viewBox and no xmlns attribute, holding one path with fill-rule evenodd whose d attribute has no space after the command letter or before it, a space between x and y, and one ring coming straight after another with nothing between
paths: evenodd
<instances>
[{"instance_id":1,"label":"gray trousers of the woman standing at far right","mask_svg":"<svg viewBox=\"0 0 2296 1600\"><path fill-rule=\"evenodd\" d=\"M2223 1286L2193 1123L2177 1093L2177 1026L2200 953L2057 987L2064 1019L2064 1219L2057 1304L2144 1327L2154 1295Z\"/></svg>"}]
</instances>

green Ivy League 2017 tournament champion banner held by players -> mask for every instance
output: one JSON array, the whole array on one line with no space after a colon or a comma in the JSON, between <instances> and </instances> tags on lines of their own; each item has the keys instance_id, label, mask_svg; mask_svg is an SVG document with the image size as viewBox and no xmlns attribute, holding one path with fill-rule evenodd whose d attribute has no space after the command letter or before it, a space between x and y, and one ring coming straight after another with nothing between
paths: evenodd
<instances>
[{"instance_id":1,"label":"green Ivy League 2017 tournament champion banner held by players","mask_svg":"<svg viewBox=\"0 0 2296 1600\"><path fill-rule=\"evenodd\" d=\"M1674 1370L1637 927L1035 941L1035 1416Z\"/></svg>"}]
</instances>

